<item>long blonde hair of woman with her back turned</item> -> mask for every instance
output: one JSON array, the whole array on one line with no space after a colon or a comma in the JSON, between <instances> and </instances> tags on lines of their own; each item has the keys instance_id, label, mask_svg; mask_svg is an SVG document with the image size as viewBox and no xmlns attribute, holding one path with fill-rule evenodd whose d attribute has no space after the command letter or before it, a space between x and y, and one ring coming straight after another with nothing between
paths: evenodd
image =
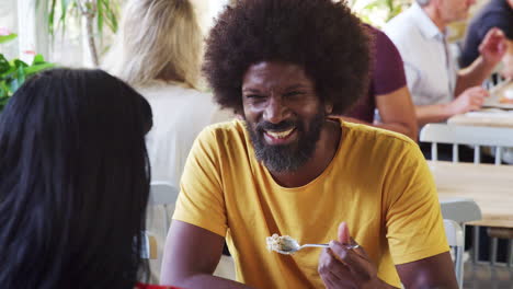
<instances>
[{"instance_id":1,"label":"long blonde hair of woman with her back turned","mask_svg":"<svg viewBox=\"0 0 513 289\"><path fill-rule=\"evenodd\" d=\"M160 79L197 88L202 37L189 0L128 0L106 68L134 86Z\"/></svg>"}]
</instances>

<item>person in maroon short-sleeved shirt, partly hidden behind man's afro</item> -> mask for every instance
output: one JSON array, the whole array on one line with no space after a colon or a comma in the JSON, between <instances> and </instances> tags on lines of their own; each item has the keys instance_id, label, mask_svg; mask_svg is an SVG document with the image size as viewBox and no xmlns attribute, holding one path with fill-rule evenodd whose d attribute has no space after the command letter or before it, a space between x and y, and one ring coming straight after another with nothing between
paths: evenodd
<instances>
[{"instance_id":1,"label":"person in maroon short-sleeved shirt, partly hidden behind man's afro","mask_svg":"<svg viewBox=\"0 0 513 289\"><path fill-rule=\"evenodd\" d=\"M373 38L371 83L367 94L344 114L344 118L394 130L417 140L417 118L401 56L385 33L366 26ZM374 119L376 108L379 111L379 120Z\"/></svg>"}]
</instances>

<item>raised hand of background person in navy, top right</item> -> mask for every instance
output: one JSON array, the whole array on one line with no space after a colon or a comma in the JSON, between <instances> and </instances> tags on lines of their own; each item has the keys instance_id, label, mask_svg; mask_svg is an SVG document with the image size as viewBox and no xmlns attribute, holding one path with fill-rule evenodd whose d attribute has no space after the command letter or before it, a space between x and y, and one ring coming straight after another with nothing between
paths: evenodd
<instances>
[{"instance_id":1,"label":"raised hand of background person in navy, top right","mask_svg":"<svg viewBox=\"0 0 513 289\"><path fill-rule=\"evenodd\" d=\"M479 45L479 54L482 56L485 62L494 66L501 61L506 53L506 48L504 33L500 28L493 27L488 31Z\"/></svg>"}]
</instances>

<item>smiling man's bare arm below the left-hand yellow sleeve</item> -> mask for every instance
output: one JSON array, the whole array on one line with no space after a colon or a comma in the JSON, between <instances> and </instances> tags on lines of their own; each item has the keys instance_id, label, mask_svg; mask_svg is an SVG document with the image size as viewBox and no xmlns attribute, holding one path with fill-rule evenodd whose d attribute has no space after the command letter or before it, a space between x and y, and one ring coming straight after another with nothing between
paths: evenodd
<instances>
[{"instance_id":1,"label":"smiling man's bare arm below the left-hand yellow sleeve","mask_svg":"<svg viewBox=\"0 0 513 289\"><path fill-rule=\"evenodd\" d=\"M161 285L183 288L249 288L213 276L225 239L203 228L173 220L166 240Z\"/></svg>"}]
</instances>

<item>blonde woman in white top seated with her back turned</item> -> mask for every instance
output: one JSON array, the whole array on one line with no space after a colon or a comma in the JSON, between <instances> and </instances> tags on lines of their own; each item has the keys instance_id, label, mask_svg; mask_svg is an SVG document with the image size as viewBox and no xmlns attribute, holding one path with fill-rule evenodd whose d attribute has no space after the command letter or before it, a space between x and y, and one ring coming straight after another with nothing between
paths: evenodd
<instances>
[{"instance_id":1,"label":"blonde woman in white top seated with her back turned","mask_svg":"<svg viewBox=\"0 0 513 289\"><path fill-rule=\"evenodd\" d=\"M150 103L153 128L147 147L151 180L180 187L185 159L198 132L229 119L208 93L200 91L203 35L189 0L128 0L117 42L105 68L133 85ZM166 235L161 211L149 210L148 230L157 238L158 259L150 261L158 281ZM168 206L169 216L174 206Z\"/></svg>"}]
</instances>

